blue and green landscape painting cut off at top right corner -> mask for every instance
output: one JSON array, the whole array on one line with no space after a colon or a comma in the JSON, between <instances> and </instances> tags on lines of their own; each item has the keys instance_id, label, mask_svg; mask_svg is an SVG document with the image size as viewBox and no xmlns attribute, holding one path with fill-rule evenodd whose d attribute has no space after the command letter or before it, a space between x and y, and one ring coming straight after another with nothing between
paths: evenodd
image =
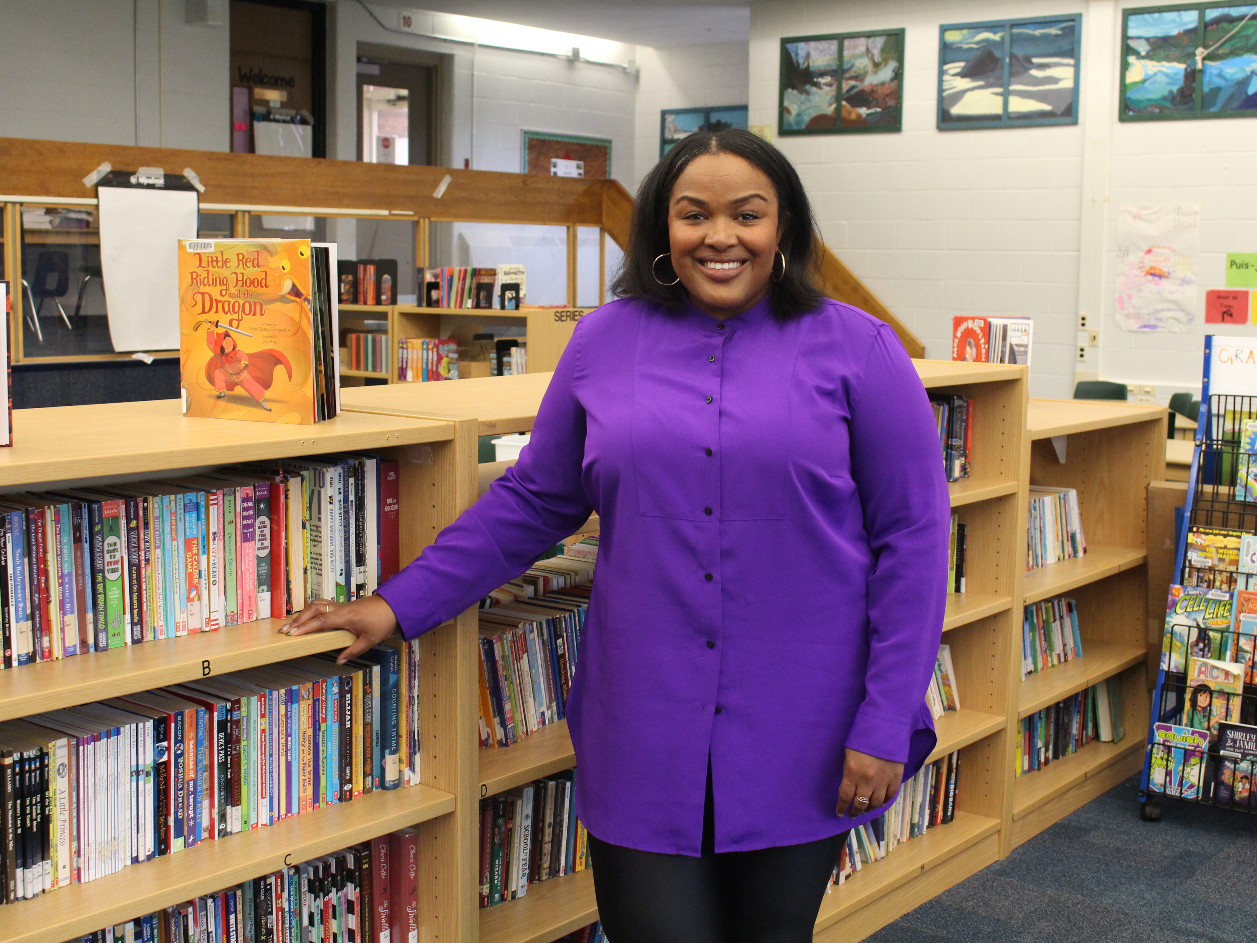
<instances>
[{"instance_id":1,"label":"blue and green landscape painting cut off at top right corner","mask_svg":"<svg viewBox=\"0 0 1257 943\"><path fill-rule=\"evenodd\" d=\"M1257 5L1123 11L1121 121L1257 116Z\"/></svg>"}]
</instances>

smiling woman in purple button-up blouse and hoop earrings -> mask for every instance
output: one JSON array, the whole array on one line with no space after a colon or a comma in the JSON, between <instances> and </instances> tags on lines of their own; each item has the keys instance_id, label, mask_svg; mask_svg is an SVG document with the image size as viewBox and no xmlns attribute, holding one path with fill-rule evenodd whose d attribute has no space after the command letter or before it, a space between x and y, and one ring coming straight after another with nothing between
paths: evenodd
<instances>
[{"instance_id":1,"label":"smiling woman in purple button-up blouse and hoop earrings","mask_svg":"<svg viewBox=\"0 0 1257 943\"><path fill-rule=\"evenodd\" d=\"M894 331L823 298L794 168L700 132L641 185L519 461L366 600L293 635L412 639L596 510L567 704L611 943L804 943L846 830L934 748L950 504Z\"/></svg>"}]
</instances>

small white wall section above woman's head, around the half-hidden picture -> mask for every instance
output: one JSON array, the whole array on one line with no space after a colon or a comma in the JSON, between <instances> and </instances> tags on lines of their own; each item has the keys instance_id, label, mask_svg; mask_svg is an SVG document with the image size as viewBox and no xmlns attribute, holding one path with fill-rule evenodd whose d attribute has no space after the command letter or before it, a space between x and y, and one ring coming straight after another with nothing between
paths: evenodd
<instances>
[{"instance_id":1,"label":"small white wall section above woman's head, around the half-hidden picture","mask_svg":"<svg viewBox=\"0 0 1257 943\"><path fill-rule=\"evenodd\" d=\"M635 174L622 180L636 190L659 161L660 112L665 108L703 108L745 104L749 59L745 43L709 43L664 49L637 48L637 140Z\"/></svg>"}]
</instances>

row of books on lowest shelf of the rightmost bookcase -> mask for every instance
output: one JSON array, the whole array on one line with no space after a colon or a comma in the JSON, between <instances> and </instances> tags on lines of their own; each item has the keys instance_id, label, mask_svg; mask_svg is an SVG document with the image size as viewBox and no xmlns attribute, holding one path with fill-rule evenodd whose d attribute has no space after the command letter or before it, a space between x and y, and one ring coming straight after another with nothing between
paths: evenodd
<instances>
[{"instance_id":1,"label":"row of books on lowest shelf of the rightmost bookcase","mask_svg":"<svg viewBox=\"0 0 1257 943\"><path fill-rule=\"evenodd\" d=\"M1021 720L1014 775L1042 769L1092 741L1120 741L1126 736L1125 717L1120 675L1036 710Z\"/></svg>"}]
</instances>

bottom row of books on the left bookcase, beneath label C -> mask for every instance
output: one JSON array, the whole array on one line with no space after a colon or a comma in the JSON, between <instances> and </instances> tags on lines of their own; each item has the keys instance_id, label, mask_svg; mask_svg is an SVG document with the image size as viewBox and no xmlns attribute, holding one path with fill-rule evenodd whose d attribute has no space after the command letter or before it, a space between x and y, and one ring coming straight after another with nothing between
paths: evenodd
<instances>
[{"instance_id":1,"label":"bottom row of books on the left bookcase, beneath label C","mask_svg":"<svg viewBox=\"0 0 1257 943\"><path fill-rule=\"evenodd\" d=\"M417 891L417 834L401 829L70 943L414 943Z\"/></svg>"}]
</instances>

